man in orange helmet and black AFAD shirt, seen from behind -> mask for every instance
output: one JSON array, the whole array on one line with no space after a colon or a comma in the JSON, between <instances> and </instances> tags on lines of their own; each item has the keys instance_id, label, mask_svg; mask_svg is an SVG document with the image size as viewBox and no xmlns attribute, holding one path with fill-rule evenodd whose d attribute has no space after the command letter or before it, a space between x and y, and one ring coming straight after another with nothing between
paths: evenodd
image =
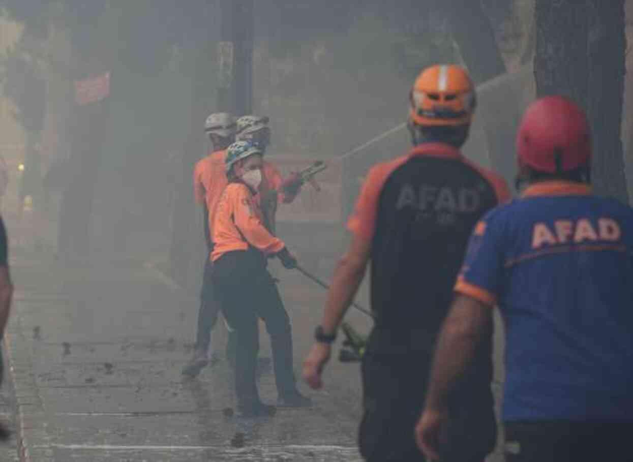
<instances>
[{"instance_id":1,"label":"man in orange helmet and black AFAD shirt, seen from behind","mask_svg":"<svg viewBox=\"0 0 633 462\"><path fill-rule=\"evenodd\" d=\"M374 166L349 219L348 253L334 275L304 378L322 386L330 344L372 261L375 327L363 356L361 455L368 461L424 461L413 428L424 402L430 358L453 298L473 226L510 197L506 183L465 159L475 90L460 66L424 70L410 94L414 147ZM454 427L442 461L482 462L496 442L492 346L451 397Z\"/></svg>"}]
</instances>

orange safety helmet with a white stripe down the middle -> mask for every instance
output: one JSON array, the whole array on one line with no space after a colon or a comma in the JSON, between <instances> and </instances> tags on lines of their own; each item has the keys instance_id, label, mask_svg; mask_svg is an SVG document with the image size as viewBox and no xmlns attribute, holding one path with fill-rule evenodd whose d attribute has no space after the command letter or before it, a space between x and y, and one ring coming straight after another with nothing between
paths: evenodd
<instances>
[{"instance_id":1,"label":"orange safety helmet with a white stripe down the middle","mask_svg":"<svg viewBox=\"0 0 633 462\"><path fill-rule=\"evenodd\" d=\"M410 93L410 120L431 127L468 125L477 98L466 70L457 65L435 65L423 70Z\"/></svg>"}]
</instances>

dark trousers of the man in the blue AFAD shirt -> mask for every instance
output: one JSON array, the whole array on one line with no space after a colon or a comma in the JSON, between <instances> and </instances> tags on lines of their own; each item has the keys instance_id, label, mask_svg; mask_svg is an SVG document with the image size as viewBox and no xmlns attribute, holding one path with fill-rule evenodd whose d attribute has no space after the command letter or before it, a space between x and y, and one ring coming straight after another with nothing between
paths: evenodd
<instances>
[{"instance_id":1,"label":"dark trousers of the man in the blue AFAD shirt","mask_svg":"<svg viewBox=\"0 0 633 462\"><path fill-rule=\"evenodd\" d=\"M633 422L506 422L506 462L628 462L632 434Z\"/></svg>"}]
</instances>

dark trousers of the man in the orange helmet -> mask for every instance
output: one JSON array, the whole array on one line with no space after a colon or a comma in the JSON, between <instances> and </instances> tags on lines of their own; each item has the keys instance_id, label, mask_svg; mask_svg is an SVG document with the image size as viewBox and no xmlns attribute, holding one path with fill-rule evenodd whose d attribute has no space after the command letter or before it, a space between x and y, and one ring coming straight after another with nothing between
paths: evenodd
<instances>
[{"instance_id":1,"label":"dark trousers of the man in the orange helmet","mask_svg":"<svg viewBox=\"0 0 633 462\"><path fill-rule=\"evenodd\" d=\"M415 444L430 366L430 354L365 353L360 453L368 462L425 462ZM442 462L483 462L496 441L492 395L482 390L479 402L451 404L449 443Z\"/></svg>"}]
</instances>

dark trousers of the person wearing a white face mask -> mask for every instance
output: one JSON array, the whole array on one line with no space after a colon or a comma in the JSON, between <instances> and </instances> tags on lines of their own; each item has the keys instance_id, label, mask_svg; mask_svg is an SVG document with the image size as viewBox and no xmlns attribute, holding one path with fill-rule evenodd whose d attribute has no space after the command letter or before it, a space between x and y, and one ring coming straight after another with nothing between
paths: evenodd
<instances>
[{"instance_id":1,"label":"dark trousers of the person wearing a white face mask","mask_svg":"<svg viewBox=\"0 0 633 462\"><path fill-rule=\"evenodd\" d=\"M263 254L255 250L224 254L213 265L212 280L222 313L235 330L239 403L248 405L260 399L256 385L258 318L270 335L277 392L279 396L294 392L290 319Z\"/></svg>"}]
</instances>

